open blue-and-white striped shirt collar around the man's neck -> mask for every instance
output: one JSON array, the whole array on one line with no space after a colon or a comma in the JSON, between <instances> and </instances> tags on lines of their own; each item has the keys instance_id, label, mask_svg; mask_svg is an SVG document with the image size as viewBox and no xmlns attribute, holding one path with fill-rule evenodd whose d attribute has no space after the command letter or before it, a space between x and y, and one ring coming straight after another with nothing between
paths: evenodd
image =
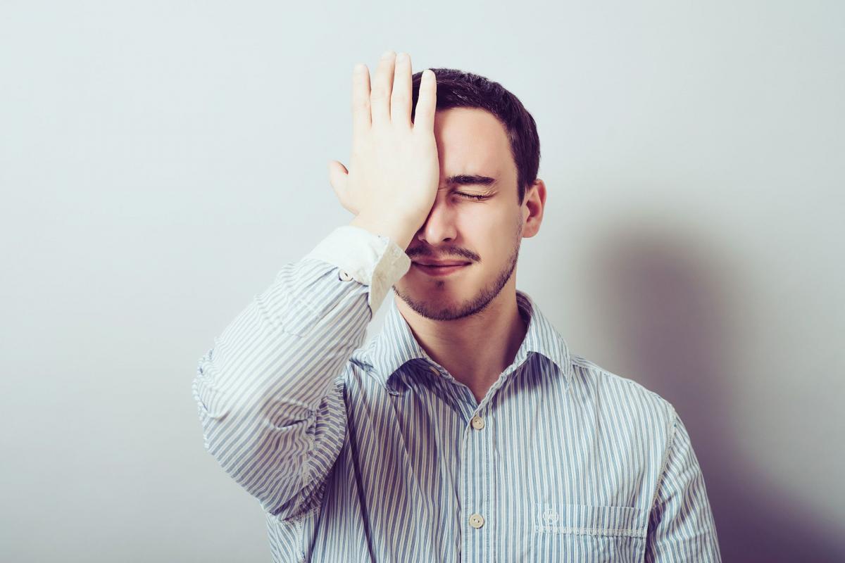
<instances>
[{"instance_id":1,"label":"open blue-and-white striped shirt collar around the man's neck","mask_svg":"<svg viewBox=\"0 0 845 563\"><path fill-rule=\"evenodd\" d=\"M396 379L401 368L408 362L423 362L437 365L437 362L423 350L411 332L405 318L395 304L395 297L390 295L389 308L384 320L384 328L369 349L373 376L389 392L399 392ZM528 322L526 337L523 339L514 358L515 365L521 365L532 353L542 355L557 365L559 373L566 378L566 385L572 377L569 346L561 338L552 323L542 315L532 298L525 292L516 290L516 306L520 315Z\"/></svg>"}]
</instances>

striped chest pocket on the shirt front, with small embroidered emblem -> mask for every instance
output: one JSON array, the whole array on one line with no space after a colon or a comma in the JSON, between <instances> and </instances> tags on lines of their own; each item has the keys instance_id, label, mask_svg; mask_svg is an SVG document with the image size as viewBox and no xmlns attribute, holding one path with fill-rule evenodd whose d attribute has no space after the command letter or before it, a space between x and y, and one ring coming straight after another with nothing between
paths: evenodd
<instances>
[{"instance_id":1,"label":"striped chest pocket on the shirt front, with small embroidered emblem","mask_svg":"<svg viewBox=\"0 0 845 563\"><path fill-rule=\"evenodd\" d=\"M641 562L647 529L648 511L641 508L537 502L531 560Z\"/></svg>"}]
</instances>

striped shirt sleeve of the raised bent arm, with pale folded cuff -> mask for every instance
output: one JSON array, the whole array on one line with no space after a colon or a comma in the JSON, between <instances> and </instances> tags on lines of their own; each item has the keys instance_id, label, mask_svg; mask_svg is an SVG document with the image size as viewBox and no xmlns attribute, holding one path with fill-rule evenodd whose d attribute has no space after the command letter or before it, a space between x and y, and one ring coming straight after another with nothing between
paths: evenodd
<instances>
[{"instance_id":1,"label":"striped shirt sleeve of the raised bent arm, with pale folded cuff","mask_svg":"<svg viewBox=\"0 0 845 563\"><path fill-rule=\"evenodd\" d=\"M340 227L285 264L199 359L204 447L265 512L298 517L319 504L346 439L349 359L408 268L395 242Z\"/></svg>"}]
</instances>

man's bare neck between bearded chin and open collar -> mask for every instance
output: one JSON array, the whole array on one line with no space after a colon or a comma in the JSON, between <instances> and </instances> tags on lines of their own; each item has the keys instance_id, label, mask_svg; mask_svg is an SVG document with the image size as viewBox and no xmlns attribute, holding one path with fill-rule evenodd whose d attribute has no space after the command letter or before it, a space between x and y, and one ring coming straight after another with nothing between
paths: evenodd
<instances>
[{"instance_id":1,"label":"man's bare neck between bearded chin and open collar","mask_svg":"<svg viewBox=\"0 0 845 563\"><path fill-rule=\"evenodd\" d=\"M394 299L426 354L469 387L479 403L513 363L526 336L527 325L520 315L515 289L508 286L484 311L454 321L422 317L398 295Z\"/></svg>"}]
</instances>

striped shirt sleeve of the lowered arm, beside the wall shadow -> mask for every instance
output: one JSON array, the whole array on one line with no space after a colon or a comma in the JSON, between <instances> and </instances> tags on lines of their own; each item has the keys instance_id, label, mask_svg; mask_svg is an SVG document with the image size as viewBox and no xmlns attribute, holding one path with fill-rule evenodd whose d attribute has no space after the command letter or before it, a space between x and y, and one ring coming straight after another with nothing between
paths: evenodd
<instances>
[{"instance_id":1,"label":"striped shirt sleeve of the lowered arm, beside the wall shadow","mask_svg":"<svg viewBox=\"0 0 845 563\"><path fill-rule=\"evenodd\" d=\"M722 561L704 476L677 413L646 539L646 563L668 561Z\"/></svg>"}]
</instances>

